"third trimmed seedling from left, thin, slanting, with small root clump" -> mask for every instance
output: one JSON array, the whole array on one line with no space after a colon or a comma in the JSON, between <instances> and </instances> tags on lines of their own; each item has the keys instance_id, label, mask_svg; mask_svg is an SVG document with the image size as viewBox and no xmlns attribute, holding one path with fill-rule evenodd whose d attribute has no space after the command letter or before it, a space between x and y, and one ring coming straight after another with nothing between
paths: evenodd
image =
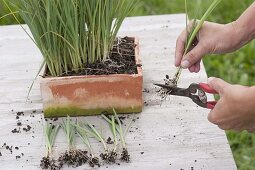
<instances>
[{"instance_id":1,"label":"third trimmed seedling from left, thin, slanting, with small root clump","mask_svg":"<svg viewBox=\"0 0 255 170\"><path fill-rule=\"evenodd\" d=\"M100 167L100 163L99 163L99 159L98 157L96 157L92 151L92 147L90 145L89 139L88 139L88 135L87 132L85 132L81 126L79 126L78 124L74 125L76 127L76 131L78 133L78 135L80 136L80 138L82 139L83 143L88 147L91 158L89 159L89 165L91 167L94 167L95 165L97 165L98 167Z\"/></svg>"}]
</instances>

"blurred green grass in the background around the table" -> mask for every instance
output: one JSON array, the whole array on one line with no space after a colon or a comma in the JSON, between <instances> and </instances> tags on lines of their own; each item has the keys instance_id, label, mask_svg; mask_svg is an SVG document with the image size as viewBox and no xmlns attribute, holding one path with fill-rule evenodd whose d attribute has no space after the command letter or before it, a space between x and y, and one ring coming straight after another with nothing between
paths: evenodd
<instances>
[{"instance_id":1,"label":"blurred green grass in the background around the table","mask_svg":"<svg viewBox=\"0 0 255 170\"><path fill-rule=\"evenodd\" d=\"M184 0L138 0L139 8L135 15L159 15L184 13ZM212 0L188 0L189 16L195 16L195 11L202 14ZM199 3L200 2L200 3ZM240 14L254 0L223 0L209 17L209 21L228 23ZM197 8L199 6L199 8ZM0 17L8 10L0 1ZM0 20L0 25L15 24L12 17ZM255 84L255 42L251 42L235 53L208 56L204 59L209 76L220 77L230 83L242 85ZM255 134L247 132L227 132L227 137L234 154L238 169L255 169Z\"/></svg>"}]
</instances>

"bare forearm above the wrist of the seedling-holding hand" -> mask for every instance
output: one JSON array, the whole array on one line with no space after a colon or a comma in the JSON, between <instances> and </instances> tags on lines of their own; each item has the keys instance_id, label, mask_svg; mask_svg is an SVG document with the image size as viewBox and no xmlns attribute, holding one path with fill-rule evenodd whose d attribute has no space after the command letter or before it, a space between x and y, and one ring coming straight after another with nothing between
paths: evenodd
<instances>
[{"instance_id":1,"label":"bare forearm above the wrist of the seedling-holding hand","mask_svg":"<svg viewBox=\"0 0 255 170\"><path fill-rule=\"evenodd\" d=\"M241 46L255 38L255 2L233 22L233 26Z\"/></svg>"}]
</instances>

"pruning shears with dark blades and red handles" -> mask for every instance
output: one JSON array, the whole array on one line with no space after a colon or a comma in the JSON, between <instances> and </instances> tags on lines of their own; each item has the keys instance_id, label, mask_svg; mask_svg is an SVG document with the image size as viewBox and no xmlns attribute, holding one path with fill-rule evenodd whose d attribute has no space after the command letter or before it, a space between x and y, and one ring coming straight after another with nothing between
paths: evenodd
<instances>
[{"instance_id":1,"label":"pruning shears with dark blades and red handles","mask_svg":"<svg viewBox=\"0 0 255 170\"><path fill-rule=\"evenodd\" d=\"M217 104L217 101L207 101L206 93L218 94L218 92L206 83L192 83L187 89L165 84L154 85L168 90L170 95L189 97L194 103L203 108L213 109Z\"/></svg>"}]
</instances>

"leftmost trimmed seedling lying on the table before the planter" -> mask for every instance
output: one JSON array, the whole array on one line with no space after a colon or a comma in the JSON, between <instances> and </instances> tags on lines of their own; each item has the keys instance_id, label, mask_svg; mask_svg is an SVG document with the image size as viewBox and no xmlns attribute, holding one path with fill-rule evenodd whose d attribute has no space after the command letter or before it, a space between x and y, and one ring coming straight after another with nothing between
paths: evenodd
<instances>
[{"instance_id":1,"label":"leftmost trimmed seedling lying on the table before the planter","mask_svg":"<svg viewBox=\"0 0 255 170\"><path fill-rule=\"evenodd\" d=\"M56 164L56 161L53 159L52 148L59 130L59 125L50 125L46 124L44 128L45 140L46 140L46 156L42 158L40 167L42 169L60 169L59 165Z\"/></svg>"}]
</instances>

